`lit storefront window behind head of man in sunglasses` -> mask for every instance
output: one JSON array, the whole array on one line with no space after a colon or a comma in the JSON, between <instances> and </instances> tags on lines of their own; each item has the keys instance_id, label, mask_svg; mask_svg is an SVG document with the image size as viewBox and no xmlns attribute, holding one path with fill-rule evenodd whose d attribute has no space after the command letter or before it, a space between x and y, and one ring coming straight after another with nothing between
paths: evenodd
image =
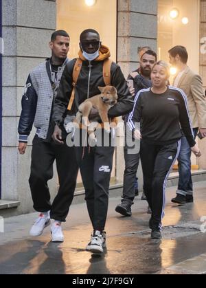
<instances>
[{"instance_id":1,"label":"lit storefront window behind head of man in sunglasses","mask_svg":"<svg viewBox=\"0 0 206 288\"><path fill-rule=\"evenodd\" d=\"M91 5L93 3L93 5ZM71 38L68 57L78 57L80 33L88 28L97 30L103 45L109 47L116 61L117 1L116 0L57 0L57 30L66 30ZM115 181L115 155L111 181ZM82 186L78 175L78 186Z\"/></svg>"}]
</instances>

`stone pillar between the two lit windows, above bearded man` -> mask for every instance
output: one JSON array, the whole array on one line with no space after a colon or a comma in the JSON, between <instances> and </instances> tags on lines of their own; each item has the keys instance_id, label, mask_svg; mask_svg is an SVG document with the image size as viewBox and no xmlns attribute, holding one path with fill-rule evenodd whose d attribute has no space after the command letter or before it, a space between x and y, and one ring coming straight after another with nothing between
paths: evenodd
<instances>
[{"instance_id":1,"label":"stone pillar between the two lit windows, above bearded man","mask_svg":"<svg viewBox=\"0 0 206 288\"><path fill-rule=\"evenodd\" d=\"M125 76L137 69L137 47L157 51L157 0L118 0L117 62Z\"/></svg>"}]
</instances>

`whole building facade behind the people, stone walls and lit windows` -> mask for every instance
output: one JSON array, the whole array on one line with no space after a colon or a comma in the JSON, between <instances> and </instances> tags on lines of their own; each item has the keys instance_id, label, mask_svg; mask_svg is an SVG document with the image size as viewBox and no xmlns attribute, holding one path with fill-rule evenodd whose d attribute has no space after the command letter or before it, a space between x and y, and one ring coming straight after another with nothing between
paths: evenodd
<instances>
[{"instance_id":1,"label":"whole building facade behind the people, stone walls and lit windows","mask_svg":"<svg viewBox=\"0 0 206 288\"><path fill-rule=\"evenodd\" d=\"M17 126L21 113L21 97L27 74L50 56L50 36L56 29L64 29L71 36L69 58L78 53L78 38L82 30L93 27L100 32L102 43L111 48L113 60L122 67L124 75L137 68L137 48L148 45L159 58L168 60L167 51L174 45L185 45L189 65L203 76L206 86L205 21L203 0L2 0L2 147L1 199L20 203L14 213L32 211L28 185L32 135L25 155L19 155ZM179 16L170 18L176 8ZM182 19L188 23L183 24ZM192 32L191 32L192 31ZM119 142L123 141L119 133ZM206 169L206 140L201 140L203 157L192 159ZM124 173L123 149L117 147L114 158L112 184L122 183ZM141 168L139 169L140 186ZM58 178L49 181L52 195L56 193ZM78 187L81 179L78 177ZM17 205L17 204L16 204ZM1 213L0 213L1 214Z\"/></svg>"}]
</instances>

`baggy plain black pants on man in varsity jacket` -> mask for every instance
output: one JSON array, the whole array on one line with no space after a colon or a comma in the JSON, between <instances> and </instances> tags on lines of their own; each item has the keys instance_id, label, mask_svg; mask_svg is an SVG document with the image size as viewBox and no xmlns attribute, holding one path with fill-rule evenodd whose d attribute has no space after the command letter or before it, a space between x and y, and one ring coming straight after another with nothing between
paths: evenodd
<instances>
[{"instance_id":1,"label":"baggy plain black pants on man in varsity jacket","mask_svg":"<svg viewBox=\"0 0 206 288\"><path fill-rule=\"evenodd\" d=\"M55 159L59 190L51 203L47 181L53 177ZM67 144L56 145L54 142L43 142L37 135L34 137L29 183L36 211L50 210L52 219L65 222L73 200L77 174L78 165L74 147L68 147Z\"/></svg>"}]
</instances>

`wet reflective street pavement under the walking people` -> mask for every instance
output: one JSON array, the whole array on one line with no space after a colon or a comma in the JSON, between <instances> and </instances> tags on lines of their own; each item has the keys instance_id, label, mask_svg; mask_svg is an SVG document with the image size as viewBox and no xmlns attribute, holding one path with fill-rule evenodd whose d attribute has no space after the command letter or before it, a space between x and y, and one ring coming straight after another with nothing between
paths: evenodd
<instances>
[{"instance_id":1,"label":"wet reflective street pavement under the walking people","mask_svg":"<svg viewBox=\"0 0 206 288\"><path fill-rule=\"evenodd\" d=\"M71 207L64 243L50 242L49 228L36 239L27 235L36 213L5 219L0 274L206 274L206 181L194 187L195 202L185 206L170 202L175 188L168 188L161 241L150 239L146 201L137 197L133 216L121 217L119 199L111 198L101 256L84 250L91 234L85 204Z\"/></svg>"}]
</instances>

